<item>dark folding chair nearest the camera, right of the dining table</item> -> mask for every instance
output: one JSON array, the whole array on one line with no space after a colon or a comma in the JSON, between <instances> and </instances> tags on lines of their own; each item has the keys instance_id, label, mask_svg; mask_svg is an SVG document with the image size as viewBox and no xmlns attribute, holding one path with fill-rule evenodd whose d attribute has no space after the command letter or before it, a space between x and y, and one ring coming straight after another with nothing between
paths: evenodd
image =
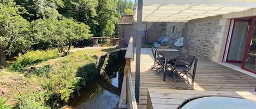
<instances>
[{"instance_id":1,"label":"dark folding chair nearest the camera, right of the dining table","mask_svg":"<svg viewBox=\"0 0 256 109\"><path fill-rule=\"evenodd\" d=\"M194 62L195 56L177 56L177 59L174 63L171 63L171 73L174 77L174 82L176 84L177 78L181 78L183 80L183 76L186 75L187 82L188 81L188 75L191 75L188 71L191 69L193 62ZM177 75L177 78L175 77L175 73Z\"/></svg>"}]
</instances>

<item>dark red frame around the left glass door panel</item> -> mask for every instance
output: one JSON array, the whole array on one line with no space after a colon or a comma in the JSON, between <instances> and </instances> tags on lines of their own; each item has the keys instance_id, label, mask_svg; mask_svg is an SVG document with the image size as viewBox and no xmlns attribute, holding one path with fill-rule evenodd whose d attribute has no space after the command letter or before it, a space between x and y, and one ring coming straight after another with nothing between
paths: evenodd
<instances>
[{"instance_id":1,"label":"dark red frame around the left glass door panel","mask_svg":"<svg viewBox=\"0 0 256 109\"><path fill-rule=\"evenodd\" d=\"M233 19L232 19L232 20L233 20ZM242 61L228 60L229 50L230 50L230 46L231 46L231 43L232 43L233 31L234 31L234 28L235 28L236 21L249 22L250 20L244 20L244 19L241 19L241 18L235 18L235 19L234 19L234 24L233 24L233 29L232 29L232 32L231 32L231 37L230 37L230 42L229 42L230 44L229 44L229 49L228 49L228 54L227 54L226 62L241 63L241 62L243 62L243 60L242 60ZM230 24L231 24L231 20L230 20ZM230 28L230 24L229 24L229 28ZM251 24L252 24L252 20L251 20ZM249 28L251 29L251 26L250 26ZM248 31L248 32L250 32L250 31ZM227 39L227 41L228 41L228 39ZM247 41L246 41L246 42L247 42ZM247 46L247 45L246 45L246 46ZM227 47L227 42L226 42L226 46L225 46L225 47ZM246 49L247 49L247 48L246 48ZM244 56L245 56L245 54L243 55L243 58L245 58Z\"/></svg>"}]
</instances>

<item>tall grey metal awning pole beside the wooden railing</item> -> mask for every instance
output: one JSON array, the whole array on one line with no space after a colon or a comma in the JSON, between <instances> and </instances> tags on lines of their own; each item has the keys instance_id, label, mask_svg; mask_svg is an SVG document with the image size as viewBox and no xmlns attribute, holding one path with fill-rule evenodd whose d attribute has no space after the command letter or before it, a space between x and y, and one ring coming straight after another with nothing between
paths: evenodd
<instances>
[{"instance_id":1,"label":"tall grey metal awning pole beside the wooden railing","mask_svg":"<svg viewBox=\"0 0 256 109\"><path fill-rule=\"evenodd\" d=\"M135 69L135 98L140 101L140 52L142 31L142 0L138 0L137 27L136 27L136 69Z\"/></svg>"}]
</instances>

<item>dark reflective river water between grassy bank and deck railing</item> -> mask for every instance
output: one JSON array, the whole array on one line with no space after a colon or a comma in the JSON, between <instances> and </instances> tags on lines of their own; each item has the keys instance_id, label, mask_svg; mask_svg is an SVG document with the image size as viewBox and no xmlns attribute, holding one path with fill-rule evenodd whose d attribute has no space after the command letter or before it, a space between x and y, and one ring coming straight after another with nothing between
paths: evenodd
<instances>
[{"instance_id":1,"label":"dark reflective river water between grassy bank and deck railing","mask_svg":"<svg viewBox=\"0 0 256 109\"><path fill-rule=\"evenodd\" d=\"M80 95L75 95L69 101L69 108L83 109L114 109L118 108L123 80L124 60L109 66L106 76L97 76L87 88L81 89Z\"/></svg>"}]
</instances>

